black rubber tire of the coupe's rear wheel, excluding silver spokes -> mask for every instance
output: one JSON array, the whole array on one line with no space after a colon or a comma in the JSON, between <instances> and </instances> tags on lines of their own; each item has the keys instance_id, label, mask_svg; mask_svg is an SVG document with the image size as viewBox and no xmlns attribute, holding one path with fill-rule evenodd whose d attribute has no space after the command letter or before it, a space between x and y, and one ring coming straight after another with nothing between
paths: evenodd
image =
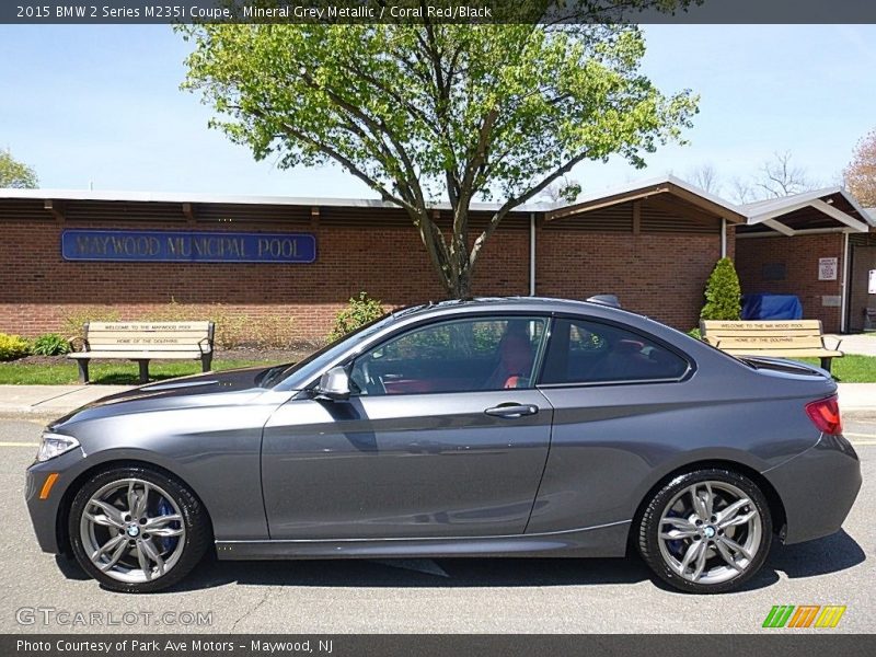
<instances>
[{"instance_id":1,"label":"black rubber tire of the coupe's rear wheel, excluding silver spokes","mask_svg":"<svg viewBox=\"0 0 876 657\"><path fill-rule=\"evenodd\" d=\"M664 512L668 510L668 505L673 503L679 494L685 492L694 484L705 484L706 482L710 482L710 484L714 482L717 485L721 483L729 484L730 486L735 486L745 493L747 498L757 509L761 522L759 540L756 533L752 532L751 535L751 541L754 545L757 545L757 551L752 555L752 558L745 560L748 563L745 565L742 570L729 579L710 584L693 581L690 578L682 577L679 572L673 569L673 567L667 561L667 556L665 556L664 552L660 550L661 540L659 538L660 519L662 518ZM727 497L729 497L729 495L727 495ZM682 498L678 498L678 502L675 502L672 506L681 503L681 500ZM645 560L645 563L648 564L648 567L650 567L657 577L662 579L669 586L689 593L723 593L736 589L744 583L748 581L763 566L763 562L766 560L770 545L772 544L773 534L770 506L760 487L747 476L730 470L718 468L695 470L693 472L683 473L672 477L671 481L666 483L653 495L650 500L646 502L647 506L645 507L645 510L642 515L642 520L638 523L638 550L642 554L642 557ZM742 509L746 508L748 507L742 507ZM706 526L708 525L710 523L706 522ZM665 544L665 551L666 553L671 554L670 545L678 545L677 550L679 551L678 555L680 556L688 548L693 545L694 541L702 541L705 545L712 545L711 550L707 551L707 554L712 554L713 556L708 557L707 563L723 567L725 572L724 576L726 577L731 573L731 570L727 568L726 560L725 562L719 561L721 555L718 554L716 545L717 539L706 538L706 535L703 534L703 530L706 529L706 526L698 528L699 535L695 538L667 542ZM715 526L713 526L713 529L710 530L710 533L714 532L714 527ZM727 531L730 530L728 529ZM748 532L750 530L736 530L736 528L734 528L733 531ZM736 553L736 555L738 554L739 553ZM681 566L681 569L684 570L683 565Z\"/></svg>"}]
</instances>

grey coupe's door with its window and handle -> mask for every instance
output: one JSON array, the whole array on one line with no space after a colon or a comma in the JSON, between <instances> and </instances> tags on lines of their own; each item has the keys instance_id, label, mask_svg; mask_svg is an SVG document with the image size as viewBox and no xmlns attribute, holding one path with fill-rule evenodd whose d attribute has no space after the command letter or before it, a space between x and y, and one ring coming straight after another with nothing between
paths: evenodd
<instances>
[{"instance_id":1,"label":"grey coupe's door with its window and handle","mask_svg":"<svg viewBox=\"0 0 876 657\"><path fill-rule=\"evenodd\" d=\"M263 442L272 539L523 533L553 416L531 383L545 327L529 316L420 325L350 364L349 400L286 403ZM511 333L517 353L503 357Z\"/></svg>"}]
</instances>

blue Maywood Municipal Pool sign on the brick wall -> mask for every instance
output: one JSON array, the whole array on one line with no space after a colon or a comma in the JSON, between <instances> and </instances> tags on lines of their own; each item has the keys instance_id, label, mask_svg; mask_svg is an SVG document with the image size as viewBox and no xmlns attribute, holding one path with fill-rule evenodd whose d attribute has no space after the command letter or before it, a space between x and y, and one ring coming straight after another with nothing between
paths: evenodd
<instances>
[{"instance_id":1,"label":"blue Maywood Municipal Pool sign on the brick wall","mask_svg":"<svg viewBox=\"0 0 876 657\"><path fill-rule=\"evenodd\" d=\"M312 263L316 238L308 233L171 230L65 230L66 261L160 263Z\"/></svg>"}]
</instances>

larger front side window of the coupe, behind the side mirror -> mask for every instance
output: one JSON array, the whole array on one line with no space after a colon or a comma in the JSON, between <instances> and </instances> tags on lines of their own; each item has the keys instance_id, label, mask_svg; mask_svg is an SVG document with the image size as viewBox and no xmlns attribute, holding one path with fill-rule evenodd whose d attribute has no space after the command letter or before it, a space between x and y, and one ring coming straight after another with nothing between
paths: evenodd
<instances>
[{"instance_id":1,"label":"larger front side window of the coupe, behind the side mirror","mask_svg":"<svg viewBox=\"0 0 876 657\"><path fill-rule=\"evenodd\" d=\"M532 388L544 318L472 318L413 328L359 356L354 394Z\"/></svg>"}]
</instances>

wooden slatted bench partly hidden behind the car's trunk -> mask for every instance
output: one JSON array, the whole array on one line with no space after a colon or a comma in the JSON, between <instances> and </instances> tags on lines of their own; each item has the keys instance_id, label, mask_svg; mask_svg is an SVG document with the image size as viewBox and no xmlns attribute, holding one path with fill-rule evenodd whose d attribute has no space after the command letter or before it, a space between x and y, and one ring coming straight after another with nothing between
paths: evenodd
<instances>
[{"instance_id":1,"label":"wooden slatted bench partly hidden behind the car's trunk","mask_svg":"<svg viewBox=\"0 0 876 657\"><path fill-rule=\"evenodd\" d=\"M765 322L722 322L703 320L700 334L710 345L734 356L775 356L777 358L820 358L830 371L830 361L842 357L840 343L832 349L825 344L821 320L772 320Z\"/></svg>"}]
</instances>

